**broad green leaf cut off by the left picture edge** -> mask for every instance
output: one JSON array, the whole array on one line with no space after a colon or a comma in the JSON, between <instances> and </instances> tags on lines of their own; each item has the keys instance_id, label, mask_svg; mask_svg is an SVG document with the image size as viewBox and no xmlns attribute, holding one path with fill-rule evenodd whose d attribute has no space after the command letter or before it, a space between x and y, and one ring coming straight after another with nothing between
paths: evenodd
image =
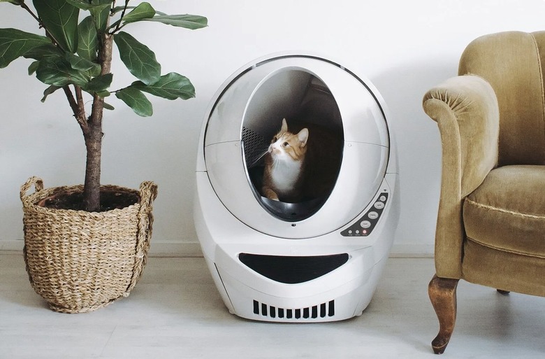
<instances>
[{"instance_id":1,"label":"broad green leaf cut off by the left picture edge","mask_svg":"<svg viewBox=\"0 0 545 359\"><path fill-rule=\"evenodd\" d=\"M0 29L0 69L32 48L51 43L45 36L17 29Z\"/></svg>"}]
</instances>

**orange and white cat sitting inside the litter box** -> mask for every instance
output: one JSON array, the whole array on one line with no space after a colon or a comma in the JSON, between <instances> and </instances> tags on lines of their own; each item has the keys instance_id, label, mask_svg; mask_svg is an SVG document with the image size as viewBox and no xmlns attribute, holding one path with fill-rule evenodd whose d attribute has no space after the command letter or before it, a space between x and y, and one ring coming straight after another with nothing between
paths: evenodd
<instances>
[{"instance_id":1,"label":"orange and white cat sitting inside the litter box","mask_svg":"<svg viewBox=\"0 0 545 359\"><path fill-rule=\"evenodd\" d=\"M290 131L284 118L270 141L262 195L289 203L328 195L340 169L342 139L315 125L292 123L291 127Z\"/></svg>"}]
</instances>

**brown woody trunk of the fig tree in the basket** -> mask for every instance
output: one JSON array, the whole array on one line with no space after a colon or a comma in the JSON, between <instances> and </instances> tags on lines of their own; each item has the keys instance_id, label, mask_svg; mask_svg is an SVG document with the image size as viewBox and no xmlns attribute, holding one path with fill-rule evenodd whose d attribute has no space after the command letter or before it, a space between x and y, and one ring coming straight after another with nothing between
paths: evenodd
<instances>
[{"instance_id":1,"label":"brown woody trunk of the fig tree in the basket","mask_svg":"<svg viewBox=\"0 0 545 359\"><path fill-rule=\"evenodd\" d=\"M110 73L112 66L113 36L103 34L99 50L99 64L101 75ZM89 212L100 210L101 188L101 148L102 148L102 115L104 99L95 94L87 131L83 132L85 147L87 148L87 164L85 167L85 184L83 189L83 209Z\"/></svg>"}]
</instances>

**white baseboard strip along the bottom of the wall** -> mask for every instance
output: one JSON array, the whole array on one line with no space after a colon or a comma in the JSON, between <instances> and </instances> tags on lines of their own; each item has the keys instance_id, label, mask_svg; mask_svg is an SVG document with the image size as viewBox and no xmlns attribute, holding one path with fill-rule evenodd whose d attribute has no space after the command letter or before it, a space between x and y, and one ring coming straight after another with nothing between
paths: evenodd
<instances>
[{"instance_id":1,"label":"white baseboard strip along the bottom of the wall","mask_svg":"<svg viewBox=\"0 0 545 359\"><path fill-rule=\"evenodd\" d=\"M22 253L23 241L0 241L0 252ZM198 242L154 241L150 257L202 257ZM433 244L393 244L391 258L433 258Z\"/></svg>"}]
</instances>

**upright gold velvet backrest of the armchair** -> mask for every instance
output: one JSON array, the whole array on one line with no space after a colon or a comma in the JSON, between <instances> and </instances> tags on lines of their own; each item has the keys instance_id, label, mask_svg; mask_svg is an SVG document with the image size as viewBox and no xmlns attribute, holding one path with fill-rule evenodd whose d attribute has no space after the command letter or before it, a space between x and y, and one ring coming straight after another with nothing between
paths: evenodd
<instances>
[{"instance_id":1,"label":"upright gold velvet backrest of the armchair","mask_svg":"<svg viewBox=\"0 0 545 359\"><path fill-rule=\"evenodd\" d=\"M507 31L467 45L459 75L481 76L500 109L498 166L545 164L545 31Z\"/></svg>"}]
</instances>

